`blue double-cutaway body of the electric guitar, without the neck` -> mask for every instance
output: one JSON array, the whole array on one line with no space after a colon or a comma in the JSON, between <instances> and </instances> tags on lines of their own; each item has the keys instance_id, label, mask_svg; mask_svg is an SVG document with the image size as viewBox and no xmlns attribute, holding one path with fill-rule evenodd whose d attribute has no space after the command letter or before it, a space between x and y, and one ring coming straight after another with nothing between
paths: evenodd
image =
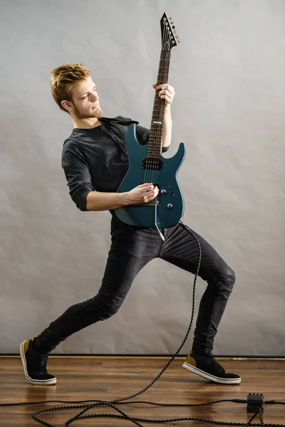
<instances>
[{"instance_id":1,"label":"blue double-cutaway body of the electric guitar, without the neck","mask_svg":"<svg viewBox=\"0 0 285 427\"><path fill-rule=\"evenodd\" d=\"M147 169L147 145L141 145L135 137L135 125L128 127L125 143L130 158L130 167L118 189L119 193L130 191L144 182L152 182L160 189L157 198L150 204L128 205L115 209L120 221L131 226L167 228L182 218L184 203L177 183L177 172L185 157L185 144L180 143L177 153L170 159L160 156L161 170ZM156 207L155 207L156 205ZM156 211L156 212L155 212Z\"/></svg>"}]
</instances>

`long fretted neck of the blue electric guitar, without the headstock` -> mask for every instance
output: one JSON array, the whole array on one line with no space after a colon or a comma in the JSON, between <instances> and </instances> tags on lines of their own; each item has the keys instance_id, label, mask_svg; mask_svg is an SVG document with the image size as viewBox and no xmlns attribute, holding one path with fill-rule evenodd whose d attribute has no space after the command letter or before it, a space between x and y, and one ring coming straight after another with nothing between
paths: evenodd
<instances>
[{"instance_id":1,"label":"long fretted neck of the blue electric guitar, without the headstock","mask_svg":"<svg viewBox=\"0 0 285 427\"><path fill-rule=\"evenodd\" d=\"M160 64L157 72L157 85L168 82L170 70L170 51L161 51ZM162 150L162 130L165 115L165 99L160 99L159 90L155 90L155 101L150 124L150 140L147 146L147 157L160 157Z\"/></svg>"}]
</instances>

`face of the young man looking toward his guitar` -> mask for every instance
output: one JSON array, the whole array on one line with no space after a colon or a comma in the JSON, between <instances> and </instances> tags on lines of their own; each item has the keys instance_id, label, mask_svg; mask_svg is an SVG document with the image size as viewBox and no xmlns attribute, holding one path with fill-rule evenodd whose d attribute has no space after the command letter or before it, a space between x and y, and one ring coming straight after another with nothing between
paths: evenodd
<instances>
[{"instance_id":1,"label":"face of the young man looking toward his guitar","mask_svg":"<svg viewBox=\"0 0 285 427\"><path fill-rule=\"evenodd\" d=\"M71 99L73 112L78 119L100 118L103 115L103 111L100 109L96 85L92 78L89 77L78 83L71 90Z\"/></svg>"}]
</instances>

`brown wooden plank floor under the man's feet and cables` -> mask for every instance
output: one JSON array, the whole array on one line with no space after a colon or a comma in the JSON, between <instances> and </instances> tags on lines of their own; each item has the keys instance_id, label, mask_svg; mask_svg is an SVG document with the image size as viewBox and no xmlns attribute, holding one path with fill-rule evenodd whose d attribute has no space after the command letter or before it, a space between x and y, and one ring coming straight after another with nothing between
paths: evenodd
<instances>
[{"instance_id":1,"label":"brown wooden plank floor under the man's feet and cables","mask_svg":"<svg viewBox=\"0 0 285 427\"><path fill-rule=\"evenodd\" d=\"M154 357L50 357L48 371L57 377L56 386L33 386L24 378L19 357L0 357L0 401L3 404L16 401L118 399L145 388L165 366L167 360ZM265 400L285 399L285 360L218 359L227 371L242 376L242 384L233 386L214 384L191 374L182 368L183 360L175 359L157 383L135 400L163 404L201 404L219 399L247 399L249 393L261 393ZM0 426L41 426L31 418L31 414L39 408L55 405L2 406ZM119 407L130 416L142 418L199 417L237 423L247 423L250 418L246 404L220 403L180 408L134 404ZM41 417L52 425L65 426L66 421L79 411L79 409L54 411L44 413ZM98 408L97 412L110 411L112 410L109 408ZM88 413L95 411L91 409ZM212 423L200 421L141 423L144 426L213 426ZM259 423L259 418L256 418L254 423ZM264 423L265 426L269 423L285 425L285 406L266 406ZM74 421L71 426L127 427L135 424L115 418L88 418Z\"/></svg>"}]
</instances>

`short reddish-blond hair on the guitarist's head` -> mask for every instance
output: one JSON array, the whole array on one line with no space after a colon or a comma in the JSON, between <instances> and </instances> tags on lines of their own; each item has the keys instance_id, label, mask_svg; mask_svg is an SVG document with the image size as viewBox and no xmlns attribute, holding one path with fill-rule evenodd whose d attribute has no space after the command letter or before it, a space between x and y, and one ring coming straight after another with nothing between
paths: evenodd
<instances>
[{"instance_id":1,"label":"short reddish-blond hair on the guitarist's head","mask_svg":"<svg viewBox=\"0 0 285 427\"><path fill-rule=\"evenodd\" d=\"M83 63L60 65L51 71L51 94L61 110L68 112L61 101L72 101L71 90L88 77L90 70Z\"/></svg>"}]
</instances>

